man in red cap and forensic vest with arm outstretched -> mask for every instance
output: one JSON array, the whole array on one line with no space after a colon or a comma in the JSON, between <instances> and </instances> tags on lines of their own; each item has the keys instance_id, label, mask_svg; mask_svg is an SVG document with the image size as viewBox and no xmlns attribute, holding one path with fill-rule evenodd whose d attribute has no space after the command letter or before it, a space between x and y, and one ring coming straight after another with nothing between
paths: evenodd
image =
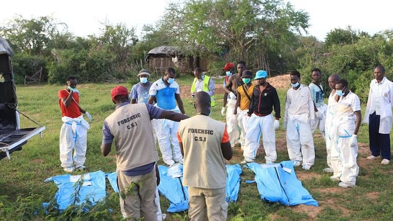
<instances>
[{"instance_id":1,"label":"man in red cap and forensic vest with arm outstretched","mask_svg":"<svg viewBox=\"0 0 393 221\"><path fill-rule=\"evenodd\" d=\"M159 182L155 164L158 153L150 120L165 118L180 121L188 116L165 111L147 103L131 105L128 90L123 86L114 87L111 97L116 104L116 110L104 121L101 151L107 156L115 139L121 213L128 220L140 217L157 220L154 198ZM131 183L135 185L129 190Z\"/></svg>"}]
</instances>

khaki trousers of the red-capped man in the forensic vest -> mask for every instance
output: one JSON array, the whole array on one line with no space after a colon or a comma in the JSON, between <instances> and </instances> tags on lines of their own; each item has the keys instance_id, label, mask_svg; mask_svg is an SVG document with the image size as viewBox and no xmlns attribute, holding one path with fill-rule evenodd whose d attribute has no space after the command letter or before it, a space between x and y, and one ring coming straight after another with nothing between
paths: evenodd
<instances>
[{"instance_id":1,"label":"khaki trousers of the red-capped man in the forensic vest","mask_svg":"<svg viewBox=\"0 0 393 221\"><path fill-rule=\"evenodd\" d=\"M131 192L126 193L126 198L120 195L120 210L124 218L128 220L138 220L139 217L144 217L144 220L157 220L157 205L154 202L157 182L156 169L143 175L128 176L121 171L117 171L117 185L120 194L124 189L130 187L134 182ZM139 186L139 182L141 182Z\"/></svg>"}]
</instances>

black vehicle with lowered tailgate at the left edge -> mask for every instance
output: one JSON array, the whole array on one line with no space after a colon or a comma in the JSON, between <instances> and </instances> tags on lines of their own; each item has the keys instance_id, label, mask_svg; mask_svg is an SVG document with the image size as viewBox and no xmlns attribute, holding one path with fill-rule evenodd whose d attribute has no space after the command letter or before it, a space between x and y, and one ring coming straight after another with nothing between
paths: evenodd
<instances>
[{"instance_id":1,"label":"black vehicle with lowered tailgate at the left edge","mask_svg":"<svg viewBox=\"0 0 393 221\"><path fill-rule=\"evenodd\" d=\"M45 129L33 120L39 125L38 127L20 128L19 126L19 113L24 114L17 109L11 56L12 50L8 42L0 37L0 160L5 157L10 159L11 152L22 149L22 145L33 136L37 134L42 136L42 131Z\"/></svg>"}]
</instances>

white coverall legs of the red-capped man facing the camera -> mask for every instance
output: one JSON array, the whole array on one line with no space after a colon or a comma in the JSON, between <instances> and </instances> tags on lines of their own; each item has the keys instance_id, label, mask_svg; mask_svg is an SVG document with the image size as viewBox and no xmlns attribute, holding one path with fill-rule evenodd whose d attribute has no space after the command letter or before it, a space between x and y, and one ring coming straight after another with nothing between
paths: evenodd
<instances>
[{"instance_id":1,"label":"white coverall legs of the red-capped man facing the camera","mask_svg":"<svg viewBox=\"0 0 393 221\"><path fill-rule=\"evenodd\" d=\"M226 131L229 135L229 141L231 142L231 146L235 146L235 144L239 141L239 130L237 129L237 117L233 114L235 111L236 100L227 99L227 108L226 108Z\"/></svg>"}]
</instances>

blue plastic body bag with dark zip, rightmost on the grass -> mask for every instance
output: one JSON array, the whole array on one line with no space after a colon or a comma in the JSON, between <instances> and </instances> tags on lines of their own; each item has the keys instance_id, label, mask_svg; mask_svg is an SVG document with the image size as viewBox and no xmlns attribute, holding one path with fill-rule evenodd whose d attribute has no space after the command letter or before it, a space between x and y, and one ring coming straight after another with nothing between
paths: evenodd
<instances>
[{"instance_id":1,"label":"blue plastic body bag with dark zip, rightmost on the grass","mask_svg":"<svg viewBox=\"0 0 393 221\"><path fill-rule=\"evenodd\" d=\"M248 163L247 166L255 173L262 200L286 206L318 206L318 202L297 179L292 161L283 161L279 164Z\"/></svg>"}]
</instances>

